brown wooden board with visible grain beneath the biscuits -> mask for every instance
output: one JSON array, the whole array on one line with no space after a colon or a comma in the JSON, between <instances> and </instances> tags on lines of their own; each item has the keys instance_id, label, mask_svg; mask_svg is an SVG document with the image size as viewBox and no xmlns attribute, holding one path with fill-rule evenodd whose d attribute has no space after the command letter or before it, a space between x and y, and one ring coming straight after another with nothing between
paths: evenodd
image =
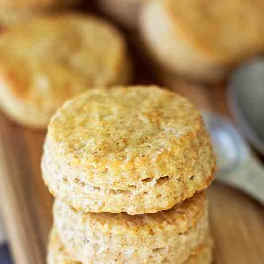
<instances>
[{"instance_id":1,"label":"brown wooden board with visible grain beneath the biscuits","mask_svg":"<svg viewBox=\"0 0 264 264\"><path fill-rule=\"evenodd\" d=\"M144 65L135 53L136 83L158 83L188 96L201 109L229 115L225 88L188 84ZM150 65L150 64L149 64ZM14 124L0 113L0 206L16 264L45 264L53 198L43 184L45 132ZM264 207L219 183L209 188L214 264L264 264Z\"/></svg>"}]
</instances>

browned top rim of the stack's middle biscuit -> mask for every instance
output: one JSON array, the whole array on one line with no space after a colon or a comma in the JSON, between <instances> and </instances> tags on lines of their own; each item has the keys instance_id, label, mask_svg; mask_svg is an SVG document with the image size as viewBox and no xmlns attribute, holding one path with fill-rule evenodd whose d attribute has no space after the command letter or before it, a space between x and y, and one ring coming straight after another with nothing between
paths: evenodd
<instances>
[{"instance_id":1,"label":"browned top rim of the stack's middle biscuit","mask_svg":"<svg viewBox=\"0 0 264 264\"><path fill-rule=\"evenodd\" d=\"M53 213L58 217L66 214L71 221L80 222L88 228L100 229L103 232L113 233L136 233L140 235L144 232L155 233L165 230L174 230L184 233L191 227L196 226L207 211L206 192L196 193L193 197L176 204L169 210L157 213L129 215L122 213L83 213L56 198Z\"/></svg>"}]
</instances>

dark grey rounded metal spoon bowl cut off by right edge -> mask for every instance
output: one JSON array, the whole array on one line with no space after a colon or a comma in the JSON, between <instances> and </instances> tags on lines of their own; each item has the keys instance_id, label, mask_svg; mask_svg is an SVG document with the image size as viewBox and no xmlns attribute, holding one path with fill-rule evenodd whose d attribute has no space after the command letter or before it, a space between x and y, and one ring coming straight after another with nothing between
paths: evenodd
<instances>
[{"instance_id":1,"label":"dark grey rounded metal spoon bowl cut off by right edge","mask_svg":"<svg viewBox=\"0 0 264 264\"><path fill-rule=\"evenodd\" d=\"M234 72L228 101L239 130L264 155L264 59L255 59Z\"/></svg>"}]
</instances>

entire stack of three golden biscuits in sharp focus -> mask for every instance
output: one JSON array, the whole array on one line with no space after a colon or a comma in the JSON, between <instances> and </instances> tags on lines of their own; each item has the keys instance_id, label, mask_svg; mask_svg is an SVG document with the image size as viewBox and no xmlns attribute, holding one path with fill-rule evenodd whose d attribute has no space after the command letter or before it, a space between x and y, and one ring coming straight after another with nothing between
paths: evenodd
<instances>
[{"instance_id":1,"label":"entire stack of three golden biscuits in sharp focus","mask_svg":"<svg viewBox=\"0 0 264 264\"><path fill-rule=\"evenodd\" d=\"M158 87L94 89L50 121L48 264L209 264L215 160L199 111Z\"/></svg>"}]
</instances>

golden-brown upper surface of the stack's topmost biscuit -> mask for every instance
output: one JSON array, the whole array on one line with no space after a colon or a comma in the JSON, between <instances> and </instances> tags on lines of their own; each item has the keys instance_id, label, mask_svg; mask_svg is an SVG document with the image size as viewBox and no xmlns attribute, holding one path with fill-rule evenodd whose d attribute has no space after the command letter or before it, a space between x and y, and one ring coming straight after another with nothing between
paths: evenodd
<instances>
[{"instance_id":1,"label":"golden-brown upper surface of the stack's topmost biscuit","mask_svg":"<svg viewBox=\"0 0 264 264\"><path fill-rule=\"evenodd\" d=\"M180 177L208 144L197 108L155 86L90 90L57 111L46 140L57 162L85 171L93 181L118 185Z\"/></svg>"}]
</instances>

